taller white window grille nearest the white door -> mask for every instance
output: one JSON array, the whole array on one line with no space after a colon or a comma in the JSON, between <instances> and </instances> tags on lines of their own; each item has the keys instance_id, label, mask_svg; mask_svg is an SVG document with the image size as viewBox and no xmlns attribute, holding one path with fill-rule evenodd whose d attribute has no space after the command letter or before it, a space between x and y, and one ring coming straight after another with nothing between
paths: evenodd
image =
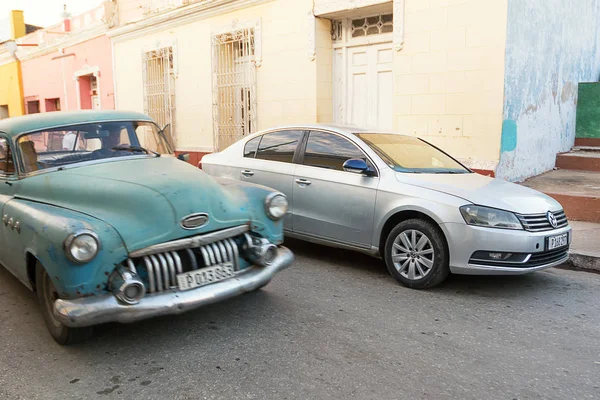
<instances>
[{"instance_id":1,"label":"taller white window grille nearest the white door","mask_svg":"<svg viewBox=\"0 0 600 400\"><path fill-rule=\"evenodd\" d=\"M215 34L213 132L215 151L256 130L256 65L253 28Z\"/></svg>"}]
</instances>

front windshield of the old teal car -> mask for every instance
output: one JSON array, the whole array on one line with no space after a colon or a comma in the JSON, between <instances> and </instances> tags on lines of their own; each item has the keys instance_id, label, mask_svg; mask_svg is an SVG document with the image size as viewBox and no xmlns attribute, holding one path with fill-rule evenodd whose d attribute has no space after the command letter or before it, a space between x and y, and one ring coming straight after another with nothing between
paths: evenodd
<instances>
[{"instance_id":1,"label":"front windshield of the old teal car","mask_svg":"<svg viewBox=\"0 0 600 400\"><path fill-rule=\"evenodd\" d=\"M57 127L17 140L25 172L115 157L172 154L158 127L145 121L102 122Z\"/></svg>"}]
</instances>

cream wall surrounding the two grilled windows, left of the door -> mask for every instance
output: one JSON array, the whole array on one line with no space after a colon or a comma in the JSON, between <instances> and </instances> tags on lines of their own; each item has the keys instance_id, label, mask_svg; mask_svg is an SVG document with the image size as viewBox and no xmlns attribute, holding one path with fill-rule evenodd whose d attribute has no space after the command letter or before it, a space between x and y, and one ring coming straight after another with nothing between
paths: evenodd
<instances>
[{"instance_id":1,"label":"cream wall surrounding the two grilled windows, left of the door","mask_svg":"<svg viewBox=\"0 0 600 400\"><path fill-rule=\"evenodd\" d=\"M262 64L257 69L258 129L317 120L317 63L308 55L312 0L277 0L135 37L113 37L117 108L143 111L145 49L175 43L178 148L212 151L211 33L261 19Z\"/></svg>"}]
</instances>

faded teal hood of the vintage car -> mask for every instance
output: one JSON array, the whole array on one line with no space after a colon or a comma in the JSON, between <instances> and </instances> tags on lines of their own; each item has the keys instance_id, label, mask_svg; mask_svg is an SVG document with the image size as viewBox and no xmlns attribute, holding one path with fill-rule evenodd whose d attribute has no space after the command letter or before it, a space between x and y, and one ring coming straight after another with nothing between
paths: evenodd
<instances>
[{"instance_id":1,"label":"faded teal hood of the vintage car","mask_svg":"<svg viewBox=\"0 0 600 400\"><path fill-rule=\"evenodd\" d=\"M112 225L129 251L252 219L243 190L226 189L173 157L73 167L17 184L20 198L75 210ZM183 229L181 219L194 213L209 214L208 224Z\"/></svg>"}]
</instances>

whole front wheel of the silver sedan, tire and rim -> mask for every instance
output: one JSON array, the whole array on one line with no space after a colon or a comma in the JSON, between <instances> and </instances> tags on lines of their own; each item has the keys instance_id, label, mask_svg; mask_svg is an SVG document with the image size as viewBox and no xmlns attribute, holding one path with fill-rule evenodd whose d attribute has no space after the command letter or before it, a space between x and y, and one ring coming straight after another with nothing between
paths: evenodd
<instances>
[{"instance_id":1,"label":"whole front wheel of the silver sedan, tire and rim","mask_svg":"<svg viewBox=\"0 0 600 400\"><path fill-rule=\"evenodd\" d=\"M450 274L443 233L423 219L402 221L392 229L385 242L384 260L390 274L413 289L439 285Z\"/></svg>"}]
</instances>

